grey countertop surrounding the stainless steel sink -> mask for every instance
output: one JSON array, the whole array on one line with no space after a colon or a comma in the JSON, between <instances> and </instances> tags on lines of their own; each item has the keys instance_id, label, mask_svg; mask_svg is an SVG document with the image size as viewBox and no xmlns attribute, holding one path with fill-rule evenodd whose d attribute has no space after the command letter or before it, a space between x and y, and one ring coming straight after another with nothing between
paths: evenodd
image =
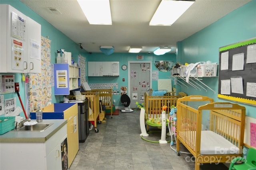
<instances>
[{"instance_id":1,"label":"grey countertop surrounding the stainless steel sink","mask_svg":"<svg viewBox=\"0 0 256 170\"><path fill-rule=\"evenodd\" d=\"M35 121L35 120L32 120ZM16 131L13 129L0 135L0 143L41 143L47 141L52 135L67 124L66 119L43 119L40 123L53 123L44 131Z\"/></svg>"}]
</instances>

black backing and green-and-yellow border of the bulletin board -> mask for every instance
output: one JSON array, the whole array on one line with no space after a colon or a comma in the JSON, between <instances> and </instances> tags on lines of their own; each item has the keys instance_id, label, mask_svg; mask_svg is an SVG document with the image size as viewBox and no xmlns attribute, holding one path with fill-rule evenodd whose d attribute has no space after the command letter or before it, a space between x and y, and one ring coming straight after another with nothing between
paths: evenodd
<instances>
[{"instance_id":1,"label":"black backing and green-and-yellow border of the bulletin board","mask_svg":"<svg viewBox=\"0 0 256 170\"><path fill-rule=\"evenodd\" d=\"M218 83L218 98L233 100L236 102L241 102L244 104L256 105L256 89L255 91L250 91L250 96L246 95L247 83L256 83L256 63L246 63L247 59L247 47L252 47L256 44L256 38L235 43L232 45L227 45L225 47L220 47L219 49L219 83ZM228 69L221 70L221 55L228 51ZM232 63L234 62L233 56L242 54L244 55L244 67L243 70L232 70ZM256 57L256 53L253 55ZM221 94L221 82L222 80L231 80L232 78L242 78L242 88L243 94L232 92L230 83L230 94ZM233 79L234 80L234 79ZM253 94L254 93L254 94ZM253 94L253 95L252 95Z\"/></svg>"}]
</instances>

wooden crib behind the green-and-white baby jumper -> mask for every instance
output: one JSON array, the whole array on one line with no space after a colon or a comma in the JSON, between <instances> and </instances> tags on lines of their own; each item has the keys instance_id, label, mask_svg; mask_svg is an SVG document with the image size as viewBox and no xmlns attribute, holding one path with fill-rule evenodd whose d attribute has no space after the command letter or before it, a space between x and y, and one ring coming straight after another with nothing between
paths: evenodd
<instances>
[{"instance_id":1,"label":"wooden crib behind the green-and-white baby jumper","mask_svg":"<svg viewBox=\"0 0 256 170\"><path fill-rule=\"evenodd\" d=\"M150 126L161 126L160 120L162 114L162 107L166 106L166 114L170 112L172 106L177 105L177 100L180 97L186 96L184 92L179 92L178 96L149 96L147 92L144 93L144 107L145 107L145 121ZM148 126L147 126L148 130Z\"/></svg>"}]
</instances>

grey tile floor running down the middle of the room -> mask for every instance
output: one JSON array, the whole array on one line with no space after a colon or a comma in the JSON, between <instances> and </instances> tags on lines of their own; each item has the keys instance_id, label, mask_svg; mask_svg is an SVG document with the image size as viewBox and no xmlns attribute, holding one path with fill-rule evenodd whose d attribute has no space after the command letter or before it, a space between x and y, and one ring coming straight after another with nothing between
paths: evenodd
<instances>
[{"instance_id":1,"label":"grey tile floor running down the middle of the room","mask_svg":"<svg viewBox=\"0 0 256 170\"><path fill-rule=\"evenodd\" d=\"M86 141L79 143L79 151L70 170L194 170L191 154L177 156L170 143L159 144L141 139L139 114L140 110L129 113L120 111L112 119L106 115L106 123L97 124L99 132L91 130ZM147 137L152 141L160 138L161 133L150 133ZM186 151L184 148L181 150ZM224 164L200 166L200 170L217 169L228 170Z\"/></svg>"}]
</instances>

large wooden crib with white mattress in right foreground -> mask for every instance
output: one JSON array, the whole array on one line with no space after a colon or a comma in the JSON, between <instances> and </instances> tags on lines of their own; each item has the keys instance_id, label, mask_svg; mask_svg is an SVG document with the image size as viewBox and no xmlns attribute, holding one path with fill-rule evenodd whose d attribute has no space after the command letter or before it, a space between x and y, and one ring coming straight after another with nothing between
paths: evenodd
<instances>
[{"instance_id":1,"label":"large wooden crib with white mattress in right foreground","mask_svg":"<svg viewBox=\"0 0 256 170\"><path fill-rule=\"evenodd\" d=\"M202 106L198 106L200 104ZM238 104L214 103L206 96L180 98L177 106L177 154L180 155L181 142L194 156L195 170L199 170L202 163L230 162L232 158L242 156L244 123L245 107Z\"/></svg>"}]
</instances>

